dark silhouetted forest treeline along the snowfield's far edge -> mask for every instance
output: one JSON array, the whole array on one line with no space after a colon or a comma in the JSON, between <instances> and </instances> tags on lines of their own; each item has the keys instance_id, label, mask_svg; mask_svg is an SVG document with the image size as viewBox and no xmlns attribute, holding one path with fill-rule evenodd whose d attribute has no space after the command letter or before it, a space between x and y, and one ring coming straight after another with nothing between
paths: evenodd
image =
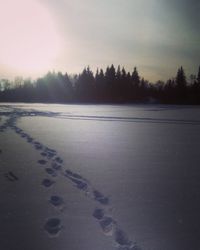
<instances>
[{"instance_id":1,"label":"dark silhouetted forest treeline along the snowfield's far edge","mask_svg":"<svg viewBox=\"0 0 200 250\"><path fill-rule=\"evenodd\" d=\"M175 78L150 83L133 72L113 65L105 72L89 67L79 75L49 72L35 81L18 77L0 80L1 102L47 103L170 103L200 104L200 67L187 80L183 67Z\"/></svg>"}]
</instances>

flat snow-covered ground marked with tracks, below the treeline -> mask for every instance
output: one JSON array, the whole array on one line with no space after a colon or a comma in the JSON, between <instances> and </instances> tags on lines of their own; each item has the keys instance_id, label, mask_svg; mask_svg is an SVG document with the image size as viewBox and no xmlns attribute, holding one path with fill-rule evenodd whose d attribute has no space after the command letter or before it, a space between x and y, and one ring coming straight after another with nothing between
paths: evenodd
<instances>
[{"instance_id":1,"label":"flat snow-covered ground marked with tracks, below the treeline","mask_svg":"<svg viewBox=\"0 0 200 250\"><path fill-rule=\"evenodd\" d=\"M200 249L200 107L0 105L0 249Z\"/></svg>"}]
</instances>

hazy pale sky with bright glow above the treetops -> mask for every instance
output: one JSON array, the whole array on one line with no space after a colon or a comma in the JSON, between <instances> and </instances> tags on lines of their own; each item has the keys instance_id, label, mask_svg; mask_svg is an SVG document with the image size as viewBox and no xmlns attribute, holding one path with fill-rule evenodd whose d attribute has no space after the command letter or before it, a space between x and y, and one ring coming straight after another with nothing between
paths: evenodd
<instances>
[{"instance_id":1,"label":"hazy pale sky with bright glow above the treetops","mask_svg":"<svg viewBox=\"0 0 200 250\"><path fill-rule=\"evenodd\" d=\"M200 65L200 0L0 0L0 78L112 63L150 81Z\"/></svg>"}]
</instances>

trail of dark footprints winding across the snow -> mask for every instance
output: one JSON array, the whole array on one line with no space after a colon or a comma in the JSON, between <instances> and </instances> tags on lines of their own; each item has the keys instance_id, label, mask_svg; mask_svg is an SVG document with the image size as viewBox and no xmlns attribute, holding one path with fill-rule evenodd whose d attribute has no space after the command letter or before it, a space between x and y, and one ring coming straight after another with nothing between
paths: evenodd
<instances>
[{"instance_id":1,"label":"trail of dark footprints winding across the snow","mask_svg":"<svg viewBox=\"0 0 200 250\"><path fill-rule=\"evenodd\" d=\"M64 167L64 160L57 154L56 150L35 140L31 135L28 135L16 125L17 120L24 116L52 117L56 115L58 114L14 109L12 112L7 113L8 119L0 126L0 132L4 132L7 128L10 128L22 139L26 140L27 143L31 144L35 150L40 151L41 159L37 161L37 165L43 167L48 175L47 178L41 181L41 185L44 186L44 188L51 188L56 183L57 178L63 176L67 181L70 181L77 190L83 192L90 200L97 204L91 216L99 224L102 233L105 236L112 237L117 249L141 250L136 243L128 238L127 234L120 228L119 223L114 219L109 197L97 190L86 178L70 169L66 169ZM12 173L8 173L6 177L12 181L18 179ZM51 206L58 208L59 212L63 211L65 203L59 195L51 195L48 202ZM49 218L44 224L44 230L50 237L57 237L62 229L63 225L60 218Z\"/></svg>"}]
</instances>

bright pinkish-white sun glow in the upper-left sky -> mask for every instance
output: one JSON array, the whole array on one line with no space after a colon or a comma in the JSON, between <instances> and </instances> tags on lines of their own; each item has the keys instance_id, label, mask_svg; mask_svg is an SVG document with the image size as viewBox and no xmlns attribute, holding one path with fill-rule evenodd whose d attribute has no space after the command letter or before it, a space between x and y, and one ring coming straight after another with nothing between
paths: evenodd
<instances>
[{"instance_id":1,"label":"bright pinkish-white sun glow in the upper-left sky","mask_svg":"<svg viewBox=\"0 0 200 250\"><path fill-rule=\"evenodd\" d=\"M55 67L61 40L37 0L0 0L0 63L30 76Z\"/></svg>"}]
</instances>

